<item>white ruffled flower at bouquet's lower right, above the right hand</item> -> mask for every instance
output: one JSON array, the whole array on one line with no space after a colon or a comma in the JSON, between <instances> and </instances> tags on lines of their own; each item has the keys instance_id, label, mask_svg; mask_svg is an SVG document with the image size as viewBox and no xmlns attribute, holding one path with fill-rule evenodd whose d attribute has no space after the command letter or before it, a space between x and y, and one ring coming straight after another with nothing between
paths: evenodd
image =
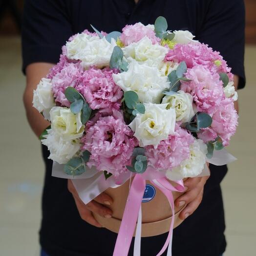
<instances>
[{"instance_id":1,"label":"white ruffled flower at bouquet's lower right, above the right hand","mask_svg":"<svg viewBox=\"0 0 256 256\"><path fill-rule=\"evenodd\" d=\"M202 140L194 140L190 146L190 156L181 162L181 165L168 170L166 177L170 180L180 180L196 177L204 170L206 163L207 146Z\"/></svg>"}]
</instances>

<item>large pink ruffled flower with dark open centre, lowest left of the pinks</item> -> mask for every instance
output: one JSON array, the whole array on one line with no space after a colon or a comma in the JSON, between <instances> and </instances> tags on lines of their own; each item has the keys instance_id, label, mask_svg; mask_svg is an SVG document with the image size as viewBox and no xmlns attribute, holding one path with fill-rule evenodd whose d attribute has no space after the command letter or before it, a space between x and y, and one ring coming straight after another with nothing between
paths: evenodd
<instances>
[{"instance_id":1,"label":"large pink ruffled flower with dark open centre, lowest left of the pinks","mask_svg":"<svg viewBox=\"0 0 256 256\"><path fill-rule=\"evenodd\" d=\"M115 177L128 171L126 165L130 165L132 151L138 145L132 135L122 112L113 109L112 115L98 117L81 139L82 150L91 153L87 166L96 166L99 171L106 170Z\"/></svg>"}]
</instances>

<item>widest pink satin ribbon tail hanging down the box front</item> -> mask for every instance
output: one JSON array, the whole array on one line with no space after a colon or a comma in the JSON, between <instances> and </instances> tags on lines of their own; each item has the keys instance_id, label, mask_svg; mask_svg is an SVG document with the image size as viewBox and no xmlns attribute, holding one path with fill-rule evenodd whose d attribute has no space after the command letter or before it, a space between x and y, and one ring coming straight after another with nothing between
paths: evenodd
<instances>
[{"instance_id":1,"label":"widest pink satin ribbon tail hanging down the box front","mask_svg":"<svg viewBox=\"0 0 256 256\"><path fill-rule=\"evenodd\" d=\"M127 256L136 221L138 219L141 201L145 192L146 180L136 174L128 194L128 199L117 235L113 256Z\"/></svg>"}]
</instances>

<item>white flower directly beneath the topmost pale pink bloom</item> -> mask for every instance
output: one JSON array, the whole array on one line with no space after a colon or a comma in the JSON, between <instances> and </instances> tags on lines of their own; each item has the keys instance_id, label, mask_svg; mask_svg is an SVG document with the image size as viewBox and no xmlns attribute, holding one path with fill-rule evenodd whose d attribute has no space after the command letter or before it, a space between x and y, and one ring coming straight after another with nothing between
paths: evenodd
<instances>
[{"instance_id":1,"label":"white flower directly beneath the topmost pale pink bloom","mask_svg":"<svg viewBox=\"0 0 256 256\"><path fill-rule=\"evenodd\" d=\"M137 43L131 43L123 48L124 56L128 62L136 60L149 66L159 66L164 60L168 49L157 43L153 44L148 37L144 37Z\"/></svg>"}]
</instances>

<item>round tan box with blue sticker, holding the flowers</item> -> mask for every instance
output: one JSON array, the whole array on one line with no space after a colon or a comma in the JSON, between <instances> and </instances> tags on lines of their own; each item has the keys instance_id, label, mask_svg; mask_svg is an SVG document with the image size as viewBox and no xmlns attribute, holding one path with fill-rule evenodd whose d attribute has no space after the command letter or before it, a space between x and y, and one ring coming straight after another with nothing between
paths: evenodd
<instances>
[{"instance_id":1,"label":"round tan box with blue sticker, holding the flowers","mask_svg":"<svg viewBox=\"0 0 256 256\"><path fill-rule=\"evenodd\" d=\"M161 235L169 232L171 225L172 212L171 207L166 196L157 189L152 183L146 181L146 189L149 191L149 198L144 198L142 202L142 231L141 236ZM174 184L173 184L174 185ZM118 233L123 213L126 206L126 201L129 192L129 180L122 186L105 191L113 198L113 204L109 208L113 211L112 218L104 218L96 213L94 217L97 221L108 230ZM178 198L181 192L172 192L174 200ZM182 223L183 220L179 218L179 213L182 207L175 207L174 211L174 228ZM133 236L135 236L135 231Z\"/></svg>"}]
</instances>

